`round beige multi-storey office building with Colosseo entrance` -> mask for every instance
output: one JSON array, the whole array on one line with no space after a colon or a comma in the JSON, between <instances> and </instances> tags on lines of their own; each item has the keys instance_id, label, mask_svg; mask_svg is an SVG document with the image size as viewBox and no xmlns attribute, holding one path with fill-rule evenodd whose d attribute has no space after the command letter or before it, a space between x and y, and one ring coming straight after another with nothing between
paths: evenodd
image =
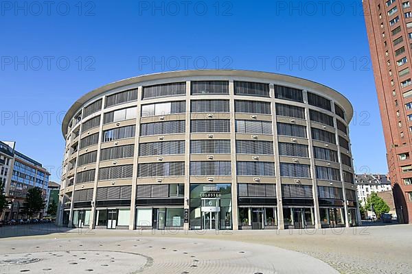
<instances>
[{"instance_id":1,"label":"round beige multi-storey office building with Colosseo entrance","mask_svg":"<svg viewBox=\"0 0 412 274\"><path fill-rule=\"evenodd\" d=\"M108 229L291 229L358 222L339 92L275 73L176 71L74 103L59 221Z\"/></svg>"}]
</instances>

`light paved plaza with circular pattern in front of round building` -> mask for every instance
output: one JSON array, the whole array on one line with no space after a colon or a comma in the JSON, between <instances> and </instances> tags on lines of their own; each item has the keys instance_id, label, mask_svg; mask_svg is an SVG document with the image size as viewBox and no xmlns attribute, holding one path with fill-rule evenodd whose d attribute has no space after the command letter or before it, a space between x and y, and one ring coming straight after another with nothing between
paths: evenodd
<instances>
[{"instance_id":1,"label":"light paved plaza with circular pattern in front of round building","mask_svg":"<svg viewBox=\"0 0 412 274\"><path fill-rule=\"evenodd\" d=\"M0 237L0 273L412 273L411 225L280 232L20 225L0 227Z\"/></svg>"}]
</instances>

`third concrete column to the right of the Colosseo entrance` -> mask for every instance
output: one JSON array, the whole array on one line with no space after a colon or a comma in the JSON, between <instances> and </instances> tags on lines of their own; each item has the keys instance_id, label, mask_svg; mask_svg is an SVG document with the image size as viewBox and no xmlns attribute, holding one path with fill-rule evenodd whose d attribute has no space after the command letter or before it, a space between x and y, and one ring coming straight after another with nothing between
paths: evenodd
<instances>
[{"instance_id":1,"label":"third concrete column to the right of the Colosseo entrance","mask_svg":"<svg viewBox=\"0 0 412 274\"><path fill-rule=\"evenodd\" d=\"M308 104L308 92L304 90L304 102ZM316 179L316 169L314 167L314 155L313 155L313 142L312 142L312 130L310 127L310 119L309 119L309 108L306 105L305 108L305 115L306 121L308 123L308 127L306 127L308 140L309 140L309 158L310 158L310 173L312 173L312 191L313 191L313 205L314 205L314 226L317 229L321 229L321 217L319 212L319 199L318 199L318 191L317 191L317 179Z\"/></svg>"}]
</instances>

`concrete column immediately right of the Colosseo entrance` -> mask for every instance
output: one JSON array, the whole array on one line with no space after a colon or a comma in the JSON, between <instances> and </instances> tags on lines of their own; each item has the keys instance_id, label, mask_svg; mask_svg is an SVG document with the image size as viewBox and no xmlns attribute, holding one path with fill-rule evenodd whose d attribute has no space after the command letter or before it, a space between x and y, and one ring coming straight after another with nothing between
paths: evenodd
<instances>
[{"instance_id":1,"label":"concrete column immediately right of the Colosseo entrance","mask_svg":"<svg viewBox=\"0 0 412 274\"><path fill-rule=\"evenodd\" d=\"M230 96L230 139L231 139L231 199L232 199L232 227L233 230L239 229L238 221L238 176L236 172L236 132L235 132L235 88L233 79L229 80Z\"/></svg>"}]
</instances>

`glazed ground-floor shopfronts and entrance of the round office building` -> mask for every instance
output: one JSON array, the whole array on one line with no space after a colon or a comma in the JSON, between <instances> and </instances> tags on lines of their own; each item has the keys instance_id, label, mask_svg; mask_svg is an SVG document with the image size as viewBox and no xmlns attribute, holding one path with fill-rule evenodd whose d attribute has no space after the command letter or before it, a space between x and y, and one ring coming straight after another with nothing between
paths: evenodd
<instances>
[{"instance_id":1,"label":"glazed ground-floor shopfronts and entrance of the round office building","mask_svg":"<svg viewBox=\"0 0 412 274\"><path fill-rule=\"evenodd\" d=\"M73 227L98 229L225 230L345 227L356 226L358 221L356 202L348 203L347 216L340 199L319 199L318 209L313 199L283 197L279 208L272 186L261 190L258 184L241 187L234 210L231 184L191 184L187 198L179 195L183 190L173 196L138 196L133 212L130 199L97 201L94 209L91 201L75 203L71 214L69 208L65 209L63 223L69 225L71 219ZM233 227L235 218L237 227Z\"/></svg>"}]
</instances>

